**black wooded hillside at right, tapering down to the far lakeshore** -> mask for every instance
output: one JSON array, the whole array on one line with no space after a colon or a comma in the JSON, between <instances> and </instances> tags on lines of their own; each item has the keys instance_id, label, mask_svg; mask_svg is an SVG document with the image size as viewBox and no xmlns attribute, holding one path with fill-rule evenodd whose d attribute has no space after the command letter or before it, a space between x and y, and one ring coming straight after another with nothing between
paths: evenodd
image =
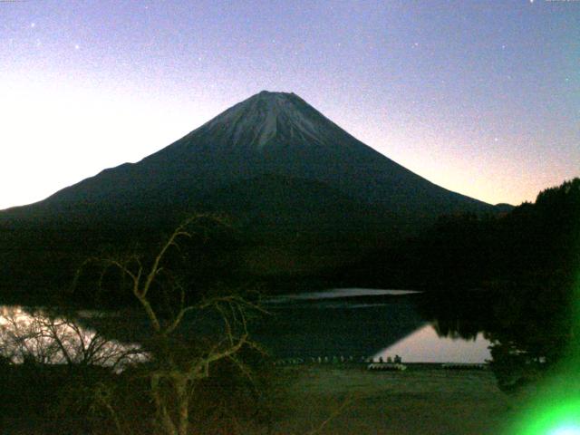
<instances>
[{"instance_id":1,"label":"black wooded hillside at right, tapering down to the far lakeshore","mask_svg":"<svg viewBox=\"0 0 580 435\"><path fill-rule=\"evenodd\" d=\"M580 179L500 215L443 216L419 236L372 252L344 280L430 291L572 285L580 265Z\"/></svg>"}]
</instances>

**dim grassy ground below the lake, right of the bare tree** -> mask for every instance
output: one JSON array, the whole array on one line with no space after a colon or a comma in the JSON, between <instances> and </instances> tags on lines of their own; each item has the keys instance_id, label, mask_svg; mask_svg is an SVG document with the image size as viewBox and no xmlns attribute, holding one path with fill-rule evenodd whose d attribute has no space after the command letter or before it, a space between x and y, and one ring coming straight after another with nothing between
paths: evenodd
<instances>
[{"instance_id":1,"label":"dim grassy ground below the lake, right of the bare tree","mask_svg":"<svg viewBox=\"0 0 580 435\"><path fill-rule=\"evenodd\" d=\"M521 399L499 391L489 371L281 371L289 387L276 406L276 434L500 435L521 406Z\"/></svg>"}]
</instances>

